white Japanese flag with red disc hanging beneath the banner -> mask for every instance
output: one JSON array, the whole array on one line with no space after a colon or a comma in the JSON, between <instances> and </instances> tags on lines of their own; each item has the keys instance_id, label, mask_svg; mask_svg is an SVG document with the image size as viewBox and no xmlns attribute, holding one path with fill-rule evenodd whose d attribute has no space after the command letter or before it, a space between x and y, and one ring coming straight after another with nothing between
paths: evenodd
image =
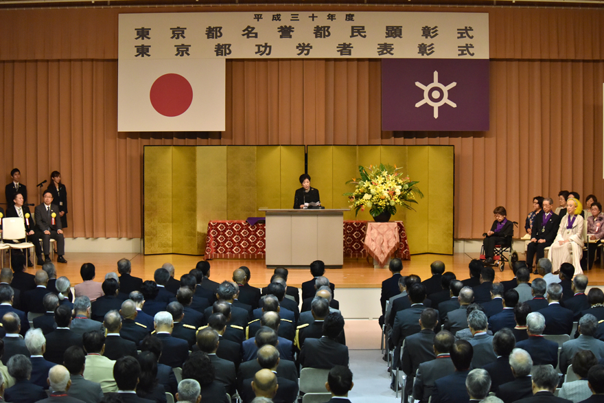
<instances>
[{"instance_id":1,"label":"white Japanese flag with red disc hanging beneath the banner","mask_svg":"<svg viewBox=\"0 0 604 403\"><path fill-rule=\"evenodd\" d=\"M119 60L117 130L224 131L224 59Z\"/></svg>"}]
</instances>

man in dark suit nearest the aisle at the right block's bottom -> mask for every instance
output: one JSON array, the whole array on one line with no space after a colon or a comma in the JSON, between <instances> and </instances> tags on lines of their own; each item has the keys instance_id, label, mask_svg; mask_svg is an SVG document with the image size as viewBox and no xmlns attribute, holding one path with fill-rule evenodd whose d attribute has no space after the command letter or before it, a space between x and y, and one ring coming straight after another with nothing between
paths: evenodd
<instances>
[{"instance_id":1,"label":"man in dark suit nearest the aisle at the right block's bottom","mask_svg":"<svg viewBox=\"0 0 604 403\"><path fill-rule=\"evenodd\" d=\"M421 403L426 403L432 395L434 382L440 378L451 375L455 367L449 354L455 337L450 332L443 330L434 336L434 355L436 358L423 362L417 368L417 376L413 382L413 398Z\"/></svg>"}]
</instances>

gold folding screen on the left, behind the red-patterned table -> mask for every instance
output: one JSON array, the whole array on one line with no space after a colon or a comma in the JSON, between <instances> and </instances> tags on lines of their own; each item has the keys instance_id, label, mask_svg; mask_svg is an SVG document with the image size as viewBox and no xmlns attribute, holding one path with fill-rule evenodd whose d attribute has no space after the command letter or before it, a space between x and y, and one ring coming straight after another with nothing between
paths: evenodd
<instances>
[{"instance_id":1,"label":"gold folding screen on the left, behind the red-patterned table","mask_svg":"<svg viewBox=\"0 0 604 403\"><path fill-rule=\"evenodd\" d=\"M303 146L146 146L145 253L205 252L209 220L293 205Z\"/></svg>"}]
</instances>

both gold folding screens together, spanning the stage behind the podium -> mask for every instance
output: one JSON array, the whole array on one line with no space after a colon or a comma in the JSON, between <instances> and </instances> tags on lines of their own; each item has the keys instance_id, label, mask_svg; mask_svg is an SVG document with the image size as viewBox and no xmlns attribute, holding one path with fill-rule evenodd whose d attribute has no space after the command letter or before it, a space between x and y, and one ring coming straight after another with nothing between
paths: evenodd
<instances>
[{"instance_id":1,"label":"both gold folding screens together, spanning the stage behind the podium","mask_svg":"<svg viewBox=\"0 0 604 403\"><path fill-rule=\"evenodd\" d=\"M347 208L346 181L358 165L402 167L424 198L415 211L399 209L412 253L453 252L452 146L308 146L308 174L321 203ZM145 253L205 252L209 220L263 216L261 207L291 209L304 146L146 146L144 148ZM346 220L371 220L369 211Z\"/></svg>"}]
</instances>

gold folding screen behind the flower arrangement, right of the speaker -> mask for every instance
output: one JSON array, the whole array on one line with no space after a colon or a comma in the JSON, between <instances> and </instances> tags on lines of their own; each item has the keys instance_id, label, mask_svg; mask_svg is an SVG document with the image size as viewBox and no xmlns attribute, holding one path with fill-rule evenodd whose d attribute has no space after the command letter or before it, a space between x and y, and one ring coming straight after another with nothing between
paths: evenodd
<instances>
[{"instance_id":1,"label":"gold folding screen behind the flower arrangement, right of the speaker","mask_svg":"<svg viewBox=\"0 0 604 403\"><path fill-rule=\"evenodd\" d=\"M327 208L349 207L346 192L358 178L358 165L390 164L419 181L424 197L415 211L399 208L392 220L405 223L411 253L453 253L452 146L308 146L308 174ZM344 214L345 220L372 220L369 210Z\"/></svg>"}]
</instances>

